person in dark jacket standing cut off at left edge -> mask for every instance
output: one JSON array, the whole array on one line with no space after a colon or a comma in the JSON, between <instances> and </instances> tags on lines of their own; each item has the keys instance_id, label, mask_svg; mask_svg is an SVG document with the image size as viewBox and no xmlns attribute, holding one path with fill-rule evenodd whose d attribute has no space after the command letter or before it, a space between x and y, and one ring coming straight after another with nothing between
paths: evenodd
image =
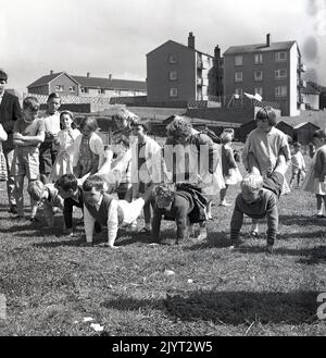
<instances>
[{"instance_id":1,"label":"person in dark jacket standing cut off at left edge","mask_svg":"<svg viewBox=\"0 0 326 358\"><path fill-rule=\"evenodd\" d=\"M14 177L11 174L14 152L12 129L14 127L15 121L21 118L22 111L18 98L4 90L7 82L7 73L0 69L0 123L2 124L3 129L8 134L8 140L2 143L2 149L5 157L8 171L7 192L10 205L9 212L17 213L16 202L13 195Z\"/></svg>"}]
</instances>

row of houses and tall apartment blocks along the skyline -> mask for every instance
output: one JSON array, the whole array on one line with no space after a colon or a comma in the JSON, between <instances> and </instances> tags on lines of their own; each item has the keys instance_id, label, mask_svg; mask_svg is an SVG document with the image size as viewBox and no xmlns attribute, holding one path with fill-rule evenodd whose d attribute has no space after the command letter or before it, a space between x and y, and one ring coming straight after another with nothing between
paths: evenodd
<instances>
[{"instance_id":1,"label":"row of houses and tall apartment blocks along the skyline","mask_svg":"<svg viewBox=\"0 0 326 358\"><path fill-rule=\"evenodd\" d=\"M135 98L138 106L177 107L205 102L214 107L241 107L248 97L275 103L281 115L296 116L300 110L318 109L319 92L302 78L306 66L296 40L229 47L223 54L196 48L189 33L188 44L167 40L147 53L146 81L115 79L50 72L27 86L29 94L79 97ZM248 96L249 95L249 96ZM138 100L136 100L138 98ZM197 103L201 102L201 103Z\"/></svg>"}]
</instances>

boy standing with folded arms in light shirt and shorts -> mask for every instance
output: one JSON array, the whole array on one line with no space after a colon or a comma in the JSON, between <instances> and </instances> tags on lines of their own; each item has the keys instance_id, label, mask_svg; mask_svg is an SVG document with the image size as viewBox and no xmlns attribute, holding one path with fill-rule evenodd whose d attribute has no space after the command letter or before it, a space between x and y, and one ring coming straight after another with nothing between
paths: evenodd
<instances>
[{"instance_id":1,"label":"boy standing with folded arms in light shirt and shorts","mask_svg":"<svg viewBox=\"0 0 326 358\"><path fill-rule=\"evenodd\" d=\"M13 174L15 177L16 219L24 218L24 177L29 183L39 177L39 147L45 140L45 122L37 118L39 103L36 97L26 97L23 101L23 116L15 122L13 143L15 145ZM37 202L30 198L30 221L35 221Z\"/></svg>"}]
</instances>

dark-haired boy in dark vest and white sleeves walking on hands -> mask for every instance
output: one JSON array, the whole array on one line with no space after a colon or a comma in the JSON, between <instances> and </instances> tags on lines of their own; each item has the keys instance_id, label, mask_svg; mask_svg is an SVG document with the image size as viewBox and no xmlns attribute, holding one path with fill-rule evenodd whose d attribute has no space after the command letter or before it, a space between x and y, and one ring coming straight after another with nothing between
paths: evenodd
<instances>
[{"instance_id":1,"label":"dark-haired boy in dark vest and white sleeves walking on hands","mask_svg":"<svg viewBox=\"0 0 326 358\"><path fill-rule=\"evenodd\" d=\"M117 230L134 222L150 199L153 186L133 202L116 200L106 194L106 183L99 175L91 175L83 183L84 192L84 224L86 242L92 244L95 223L108 226L108 246L116 248Z\"/></svg>"}]
</instances>

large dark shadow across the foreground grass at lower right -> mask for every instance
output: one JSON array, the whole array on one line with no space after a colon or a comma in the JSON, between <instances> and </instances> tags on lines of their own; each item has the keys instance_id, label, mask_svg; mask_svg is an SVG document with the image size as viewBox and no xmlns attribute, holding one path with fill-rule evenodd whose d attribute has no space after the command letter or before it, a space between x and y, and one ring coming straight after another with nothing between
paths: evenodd
<instances>
[{"instance_id":1,"label":"large dark shadow across the foreground grass at lower right","mask_svg":"<svg viewBox=\"0 0 326 358\"><path fill-rule=\"evenodd\" d=\"M109 309L164 309L181 321L211 321L215 324L284 323L302 324L316 320L317 292L168 292L166 299L141 300L117 297L105 300Z\"/></svg>"}]
</instances>

